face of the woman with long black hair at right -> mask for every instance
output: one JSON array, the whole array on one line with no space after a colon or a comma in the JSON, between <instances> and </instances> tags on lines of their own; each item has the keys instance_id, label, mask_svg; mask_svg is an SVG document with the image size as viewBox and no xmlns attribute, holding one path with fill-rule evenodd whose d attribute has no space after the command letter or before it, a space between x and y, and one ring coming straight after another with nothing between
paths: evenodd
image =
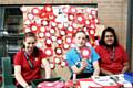
<instances>
[{"instance_id":1,"label":"face of the woman with long black hair at right","mask_svg":"<svg viewBox=\"0 0 133 88\"><path fill-rule=\"evenodd\" d=\"M113 33L111 33L111 32L105 32L105 37L104 37L104 42L105 42L105 44L106 45L113 45L113 43L114 43L114 35L113 35Z\"/></svg>"}]
</instances>

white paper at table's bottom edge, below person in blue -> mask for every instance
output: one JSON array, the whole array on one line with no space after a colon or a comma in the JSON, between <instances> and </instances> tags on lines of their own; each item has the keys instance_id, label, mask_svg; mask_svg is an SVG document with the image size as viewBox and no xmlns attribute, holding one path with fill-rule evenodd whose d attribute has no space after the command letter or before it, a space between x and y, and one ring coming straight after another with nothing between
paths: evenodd
<instances>
[{"instance_id":1,"label":"white paper at table's bottom edge, below person in blue","mask_svg":"<svg viewBox=\"0 0 133 88\"><path fill-rule=\"evenodd\" d=\"M80 81L81 88L89 88L89 87L102 87L93 81Z\"/></svg>"}]
</instances>

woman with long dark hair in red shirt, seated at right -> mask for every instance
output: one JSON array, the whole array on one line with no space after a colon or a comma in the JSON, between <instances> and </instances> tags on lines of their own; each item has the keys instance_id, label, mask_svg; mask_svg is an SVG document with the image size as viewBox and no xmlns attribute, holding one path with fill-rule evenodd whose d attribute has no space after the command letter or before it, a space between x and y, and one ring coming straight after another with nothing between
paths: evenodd
<instances>
[{"instance_id":1,"label":"woman with long dark hair in red shirt, seated at right","mask_svg":"<svg viewBox=\"0 0 133 88\"><path fill-rule=\"evenodd\" d=\"M123 74L129 69L129 57L119 44L114 29L106 28L101 35L95 51L100 55L101 75Z\"/></svg>"}]
</instances>

